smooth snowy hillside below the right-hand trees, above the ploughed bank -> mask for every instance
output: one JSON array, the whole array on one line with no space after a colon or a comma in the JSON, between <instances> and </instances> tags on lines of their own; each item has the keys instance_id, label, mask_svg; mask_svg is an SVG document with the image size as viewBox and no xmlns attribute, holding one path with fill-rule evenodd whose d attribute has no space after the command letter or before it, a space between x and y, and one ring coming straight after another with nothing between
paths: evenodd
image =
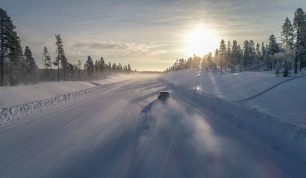
<instances>
[{"instance_id":1,"label":"smooth snowy hillside below the right-hand trees, above the ploughed bank","mask_svg":"<svg viewBox=\"0 0 306 178\"><path fill-rule=\"evenodd\" d=\"M305 74L306 71L301 71L290 77L276 77L274 71L206 74L206 71L184 69L160 78L306 124Z\"/></svg>"}]
</instances>

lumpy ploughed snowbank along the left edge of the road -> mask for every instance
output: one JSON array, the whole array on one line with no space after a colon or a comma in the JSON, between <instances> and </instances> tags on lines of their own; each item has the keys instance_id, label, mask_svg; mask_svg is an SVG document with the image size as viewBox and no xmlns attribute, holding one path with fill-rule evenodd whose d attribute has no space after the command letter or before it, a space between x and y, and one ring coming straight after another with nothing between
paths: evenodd
<instances>
[{"instance_id":1,"label":"lumpy ploughed snowbank along the left edge of the road","mask_svg":"<svg viewBox=\"0 0 306 178\"><path fill-rule=\"evenodd\" d=\"M0 109L0 126L21 120L25 117L29 117L37 113L41 113L43 111L52 109L54 107L58 107L65 103L85 98L87 96L99 93L101 91L110 89L111 87L117 86L118 84L123 84L126 82L127 80L121 82L109 83L105 85L99 85L96 87L91 87L85 90L76 91L73 93L60 95L53 98L30 102L27 104L13 106L9 108L2 108Z\"/></svg>"}]
</instances>

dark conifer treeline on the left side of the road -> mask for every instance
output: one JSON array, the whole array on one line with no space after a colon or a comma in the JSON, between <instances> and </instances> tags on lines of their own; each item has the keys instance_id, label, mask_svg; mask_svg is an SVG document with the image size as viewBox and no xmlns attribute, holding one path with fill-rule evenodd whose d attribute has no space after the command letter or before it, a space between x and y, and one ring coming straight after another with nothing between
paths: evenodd
<instances>
[{"instance_id":1,"label":"dark conifer treeline on the left side of the road","mask_svg":"<svg viewBox=\"0 0 306 178\"><path fill-rule=\"evenodd\" d=\"M81 60L73 65L65 56L61 35L55 35L56 54L51 61L47 47L43 47L42 62L44 69L39 69L31 49L24 51L21 40L14 31L16 26L7 12L0 8L0 86L16 86L19 83L37 84L39 81L91 81L99 80L112 74L129 74L131 66L105 63L103 57L93 61L87 57L84 65ZM52 65L57 69L52 69Z\"/></svg>"}]
</instances>

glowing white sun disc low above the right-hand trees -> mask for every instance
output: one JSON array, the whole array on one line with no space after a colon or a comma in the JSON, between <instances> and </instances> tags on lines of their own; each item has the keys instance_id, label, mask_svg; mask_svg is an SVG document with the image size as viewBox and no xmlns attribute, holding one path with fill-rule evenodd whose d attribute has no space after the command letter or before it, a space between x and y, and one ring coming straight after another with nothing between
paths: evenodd
<instances>
[{"instance_id":1,"label":"glowing white sun disc low above the right-hand trees","mask_svg":"<svg viewBox=\"0 0 306 178\"><path fill-rule=\"evenodd\" d=\"M197 56L203 56L211 52L214 54L218 47L218 39L215 37L214 32L200 29L190 32L187 35L186 52L188 55L196 54Z\"/></svg>"}]
</instances>

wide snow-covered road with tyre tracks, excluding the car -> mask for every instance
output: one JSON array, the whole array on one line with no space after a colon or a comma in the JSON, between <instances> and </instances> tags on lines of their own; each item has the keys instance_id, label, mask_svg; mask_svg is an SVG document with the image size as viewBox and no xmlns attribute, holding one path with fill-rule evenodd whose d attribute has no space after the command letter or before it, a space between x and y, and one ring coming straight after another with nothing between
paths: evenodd
<instances>
[{"instance_id":1,"label":"wide snow-covered road with tyre tracks, excluding the car","mask_svg":"<svg viewBox=\"0 0 306 178\"><path fill-rule=\"evenodd\" d=\"M167 102L157 92L170 91ZM304 168L155 78L0 128L0 177L302 177Z\"/></svg>"}]
</instances>

